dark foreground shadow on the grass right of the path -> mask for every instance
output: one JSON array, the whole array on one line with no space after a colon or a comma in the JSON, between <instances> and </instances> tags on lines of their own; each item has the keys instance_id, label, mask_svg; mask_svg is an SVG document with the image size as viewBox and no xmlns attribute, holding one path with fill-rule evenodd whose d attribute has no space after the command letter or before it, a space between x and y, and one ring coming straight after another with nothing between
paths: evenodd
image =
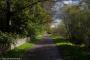
<instances>
[{"instance_id":1,"label":"dark foreground shadow on the grass right of the path","mask_svg":"<svg viewBox=\"0 0 90 60\"><path fill-rule=\"evenodd\" d=\"M59 54L62 54L64 60L90 60L90 54L81 47L61 45L57 46Z\"/></svg>"}]
</instances>

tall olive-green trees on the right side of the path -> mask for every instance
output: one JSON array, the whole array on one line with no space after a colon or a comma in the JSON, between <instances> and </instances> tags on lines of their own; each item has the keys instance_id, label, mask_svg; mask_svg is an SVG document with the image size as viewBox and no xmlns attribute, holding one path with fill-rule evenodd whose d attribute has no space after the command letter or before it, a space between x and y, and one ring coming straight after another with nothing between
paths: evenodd
<instances>
[{"instance_id":1,"label":"tall olive-green trees on the right side of the path","mask_svg":"<svg viewBox=\"0 0 90 60\"><path fill-rule=\"evenodd\" d=\"M85 43L89 46L89 16L90 12L80 9L79 6L65 7L64 23L70 39L74 43Z\"/></svg>"}]
</instances>

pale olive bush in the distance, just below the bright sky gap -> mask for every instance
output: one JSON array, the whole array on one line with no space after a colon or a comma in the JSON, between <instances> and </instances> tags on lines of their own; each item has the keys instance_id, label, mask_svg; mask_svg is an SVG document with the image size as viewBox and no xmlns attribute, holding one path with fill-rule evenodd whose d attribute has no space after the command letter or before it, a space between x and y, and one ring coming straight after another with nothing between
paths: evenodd
<instances>
[{"instance_id":1,"label":"pale olive bush in the distance, just below the bright sky gap","mask_svg":"<svg viewBox=\"0 0 90 60\"><path fill-rule=\"evenodd\" d=\"M52 28L51 29L52 34L55 35L56 37L65 37L67 35L67 30L65 27L65 24L63 23L63 21L61 21L56 28Z\"/></svg>"}]
</instances>

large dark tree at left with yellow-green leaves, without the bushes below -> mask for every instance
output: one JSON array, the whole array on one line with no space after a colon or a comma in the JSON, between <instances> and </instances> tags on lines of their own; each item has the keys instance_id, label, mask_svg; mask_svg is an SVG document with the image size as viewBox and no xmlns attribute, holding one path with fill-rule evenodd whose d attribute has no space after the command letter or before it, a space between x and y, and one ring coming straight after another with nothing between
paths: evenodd
<instances>
[{"instance_id":1,"label":"large dark tree at left with yellow-green leaves, without the bushes below","mask_svg":"<svg viewBox=\"0 0 90 60\"><path fill-rule=\"evenodd\" d=\"M47 23L49 15L43 10L41 0L1 0L1 23L5 27L0 30L7 32L23 33L26 26L33 27ZM3 4L2 4L3 3ZM5 14L3 14L5 12ZM31 28L32 28L31 26ZM30 28L30 29L31 29ZM34 28L36 29L36 27ZM33 29L31 29L33 30ZM34 30L33 30L34 31Z\"/></svg>"}]
</instances>

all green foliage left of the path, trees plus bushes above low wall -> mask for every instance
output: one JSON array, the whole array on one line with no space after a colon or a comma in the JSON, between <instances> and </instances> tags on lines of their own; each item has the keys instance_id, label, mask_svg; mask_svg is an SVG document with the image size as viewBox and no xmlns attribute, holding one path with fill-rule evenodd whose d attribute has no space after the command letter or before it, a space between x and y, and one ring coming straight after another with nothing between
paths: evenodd
<instances>
[{"instance_id":1,"label":"all green foliage left of the path, trees plus bushes above low wall","mask_svg":"<svg viewBox=\"0 0 90 60\"><path fill-rule=\"evenodd\" d=\"M51 17L39 0L0 0L0 43L35 37L46 30Z\"/></svg>"}]
</instances>

